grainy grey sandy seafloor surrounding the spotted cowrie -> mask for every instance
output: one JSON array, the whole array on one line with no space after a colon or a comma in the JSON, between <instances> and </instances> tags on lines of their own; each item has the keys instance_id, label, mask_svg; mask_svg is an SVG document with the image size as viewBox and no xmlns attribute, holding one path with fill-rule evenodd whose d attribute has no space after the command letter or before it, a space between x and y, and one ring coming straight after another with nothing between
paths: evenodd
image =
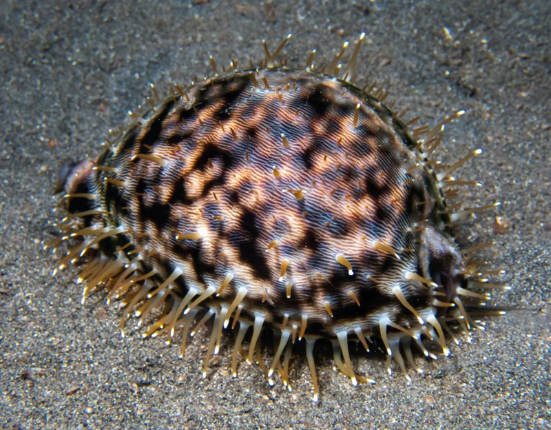
<instances>
[{"instance_id":1,"label":"grainy grey sandy seafloor surrounding the spotted cowrie","mask_svg":"<svg viewBox=\"0 0 551 430\"><path fill-rule=\"evenodd\" d=\"M0 12L0 427L550 428L551 3L3 0ZM209 54L219 64L261 59L262 38L274 46L289 32L290 64L311 48L327 61L362 30L359 81L384 85L429 124L467 111L448 127L444 157L484 147L461 170L484 186L464 198L502 205L460 236L495 240L484 258L508 271L512 290L493 302L506 316L453 345L450 358L417 358L425 373L411 372L410 386L355 354L357 373L376 383L353 387L317 349L315 404L301 356L292 393L244 362L233 379L227 334L203 379L205 330L180 360L163 339L136 330L121 339L121 312L105 294L81 305L76 269L51 276L42 243L55 232L62 161L97 154L149 83L202 76Z\"/></svg>"}]
</instances>

